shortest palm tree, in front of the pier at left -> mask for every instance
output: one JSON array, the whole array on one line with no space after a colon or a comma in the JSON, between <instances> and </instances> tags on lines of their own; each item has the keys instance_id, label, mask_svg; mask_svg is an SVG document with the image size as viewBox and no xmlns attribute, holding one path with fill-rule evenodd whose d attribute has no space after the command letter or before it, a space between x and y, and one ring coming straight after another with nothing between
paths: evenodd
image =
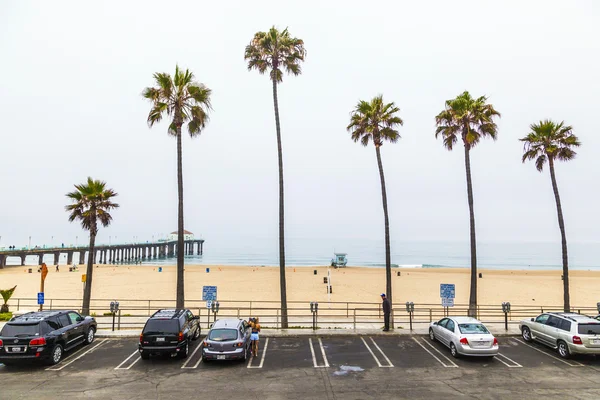
<instances>
[{"instance_id":1,"label":"shortest palm tree, in front of the pier at left","mask_svg":"<svg viewBox=\"0 0 600 400\"><path fill-rule=\"evenodd\" d=\"M92 298L92 278L96 258L94 245L98 234L98 222L104 227L110 225L112 216L109 211L119 207L119 205L112 202L117 193L112 189L107 189L106 182L88 178L86 183L75 185L75 189L77 190L67 193L67 197L71 199L72 204L67 205L65 209L71 213L69 215L70 222L77 219L81 222L83 229L90 231L87 279L83 290L83 305L81 306L81 312L87 315L90 313L90 299Z\"/></svg>"}]
</instances>

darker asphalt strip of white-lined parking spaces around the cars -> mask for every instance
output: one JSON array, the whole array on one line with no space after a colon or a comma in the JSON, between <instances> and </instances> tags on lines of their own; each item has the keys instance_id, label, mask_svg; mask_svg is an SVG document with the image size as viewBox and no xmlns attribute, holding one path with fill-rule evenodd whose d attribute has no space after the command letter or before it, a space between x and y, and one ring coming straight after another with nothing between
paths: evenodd
<instances>
[{"instance_id":1,"label":"darker asphalt strip of white-lined parking spaces around the cars","mask_svg":"<svg viewBox=\"0 0 600 400\"><path fill-rule=\"evenodd\" d=\"M436 370L509 370L554 368L556 373L587 368L600 371L600 357L574 357L564 360L556 351L520 338L501 338L500 353L495 358L453 358L439 342L424 336L327 336L271 337L261 340L257 357L246 362L202 361L201 340L192 343L186 359L152 356L142 360L137 340L97 340L69 352L55 366L24 365L5 367L0 374L14 372L72 373L81 370L112 371L117 374L162 374L165 372L227 371L261 373L284 369L321 368L336 376L336 371L388 369Z\"/></svg>"}]
</instances>

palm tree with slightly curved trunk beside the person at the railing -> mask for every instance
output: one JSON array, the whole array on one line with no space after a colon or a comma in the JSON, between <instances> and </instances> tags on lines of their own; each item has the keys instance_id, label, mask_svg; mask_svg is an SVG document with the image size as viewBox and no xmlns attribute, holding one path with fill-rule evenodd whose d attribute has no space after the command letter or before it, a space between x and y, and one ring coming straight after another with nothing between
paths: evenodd
<instances>
[{"instance_id":1,"label":"palm tree with slightly curved trunk beside the person at the railing","mask_svg":"<svg viewBox=\"0 0 600 400\"><path fill-rule=\"evenodd\" d=\"M385 224L385 282L386 295L390 304L392 301L392 265L390 255L390 221L388 218L387 194L385 190L385 177L383 175L383 164L381 163L381 146L384 141L396 143L400 134L396 130L403 124L402 119L396 115L400 111L392 103L384 103L383 96L379 95L370 102L359 101L350 114L350 124L346 129L351 133L352 140L367 146L370 141L375 146L377 154L377 166L379 167L379 178L381 180L381 198L383 200L383 219ZM392 319L392 327L394 322Z\"/></svg>"}]
</instances>

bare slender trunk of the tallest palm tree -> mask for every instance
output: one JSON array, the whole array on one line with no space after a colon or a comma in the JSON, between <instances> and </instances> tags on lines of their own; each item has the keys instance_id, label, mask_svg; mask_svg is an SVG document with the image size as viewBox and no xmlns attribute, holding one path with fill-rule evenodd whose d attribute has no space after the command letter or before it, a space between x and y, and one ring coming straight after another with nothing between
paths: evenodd
<instances>
[{"instance_id":1,"label":"bare slender trunk of the tallest palm tree","mask_svg":"<svg viewBox=\"0 0 600 400\"><path fill-rule=\"evenodd\" d=\"M283 153L281 151L281 127L279 125L279 104L277 102L277 82L273 79L273 105L275 107L275 127L277 128L277 156L279 158L279 286L281 291L281 327L288 327L287 290L285 284L285 229L283 208Z\"/></svg>"}]
</instances>

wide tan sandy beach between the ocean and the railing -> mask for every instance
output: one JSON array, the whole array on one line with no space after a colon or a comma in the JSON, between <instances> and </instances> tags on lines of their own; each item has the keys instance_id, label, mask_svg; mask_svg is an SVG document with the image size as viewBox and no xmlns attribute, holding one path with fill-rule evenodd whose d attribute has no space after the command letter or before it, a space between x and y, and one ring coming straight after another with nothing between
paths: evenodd
<instances>
[{"instance_id":1,"label":"wide tan sandy beach between the ocean and the railing","mask_svg":"<svg viewBox=\"0 0 600 400\"><path fill-rule=\"evenodd\" d=\"M33 267L11 266L0 270L0 288L17 285L15 298L35 298L39 291L40 276ZM94 299L157 299L171 300L175 293L175 266L108 266L94 270L92 297ZM206 272L210 268L210 272ZM317 270L317 275L314 275ZM326 301L327 267L288 267L287 287L290 301ZM379 302L385 291L383 268L346 267L329 269L331 274L331 301ZM49 266L46 278L47 299L79 299L83 287L79 271L69 272L60 266L56 272ZM400 276L397 273L400 272ZM560 271L498 271L480 270L480 305L497 305L510 301L518 305L561 305L562 281ZM393 273L394 303L413 301L420 304L439 304L440 283L456 284L457 304L468 302L468 269L396 269ZM575 307L595 307L600 300L600 272L571 271L571 304ZM186 299L201 300L203 285L216 285L219 300L279 300L279 268L249 266L188 266L185 271Z\"/></svg>"}]
</instances>

